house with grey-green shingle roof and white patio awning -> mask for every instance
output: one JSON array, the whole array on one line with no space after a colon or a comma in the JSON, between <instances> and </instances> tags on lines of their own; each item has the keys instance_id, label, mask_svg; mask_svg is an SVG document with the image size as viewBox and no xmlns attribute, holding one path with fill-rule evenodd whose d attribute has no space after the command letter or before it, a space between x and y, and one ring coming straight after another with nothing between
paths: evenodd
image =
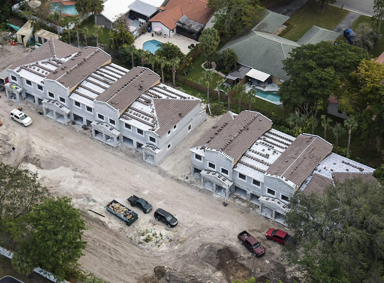
<instances>
[{"instance_id":1,"label":"house with grey-green shingle roof and white patio awning","mask_svg":"<svg viewBox=\"0 0 384 283\"><path fill-rule=\"evenodd\" d=\"M288 19L288 16L266 10L263 19L253 29L247 34L235 36L219 52L228 48L234 50L238 64L251 69L247 77L254 85L265 82L281 84L288 79L282 60L289 57L292 49L323 40L335 41L340 36L340 33L313 26L297 42L285 39L277 34ZM232 73L227 78L231 83L241 80Z\"/></svg>"}]
</instances>

